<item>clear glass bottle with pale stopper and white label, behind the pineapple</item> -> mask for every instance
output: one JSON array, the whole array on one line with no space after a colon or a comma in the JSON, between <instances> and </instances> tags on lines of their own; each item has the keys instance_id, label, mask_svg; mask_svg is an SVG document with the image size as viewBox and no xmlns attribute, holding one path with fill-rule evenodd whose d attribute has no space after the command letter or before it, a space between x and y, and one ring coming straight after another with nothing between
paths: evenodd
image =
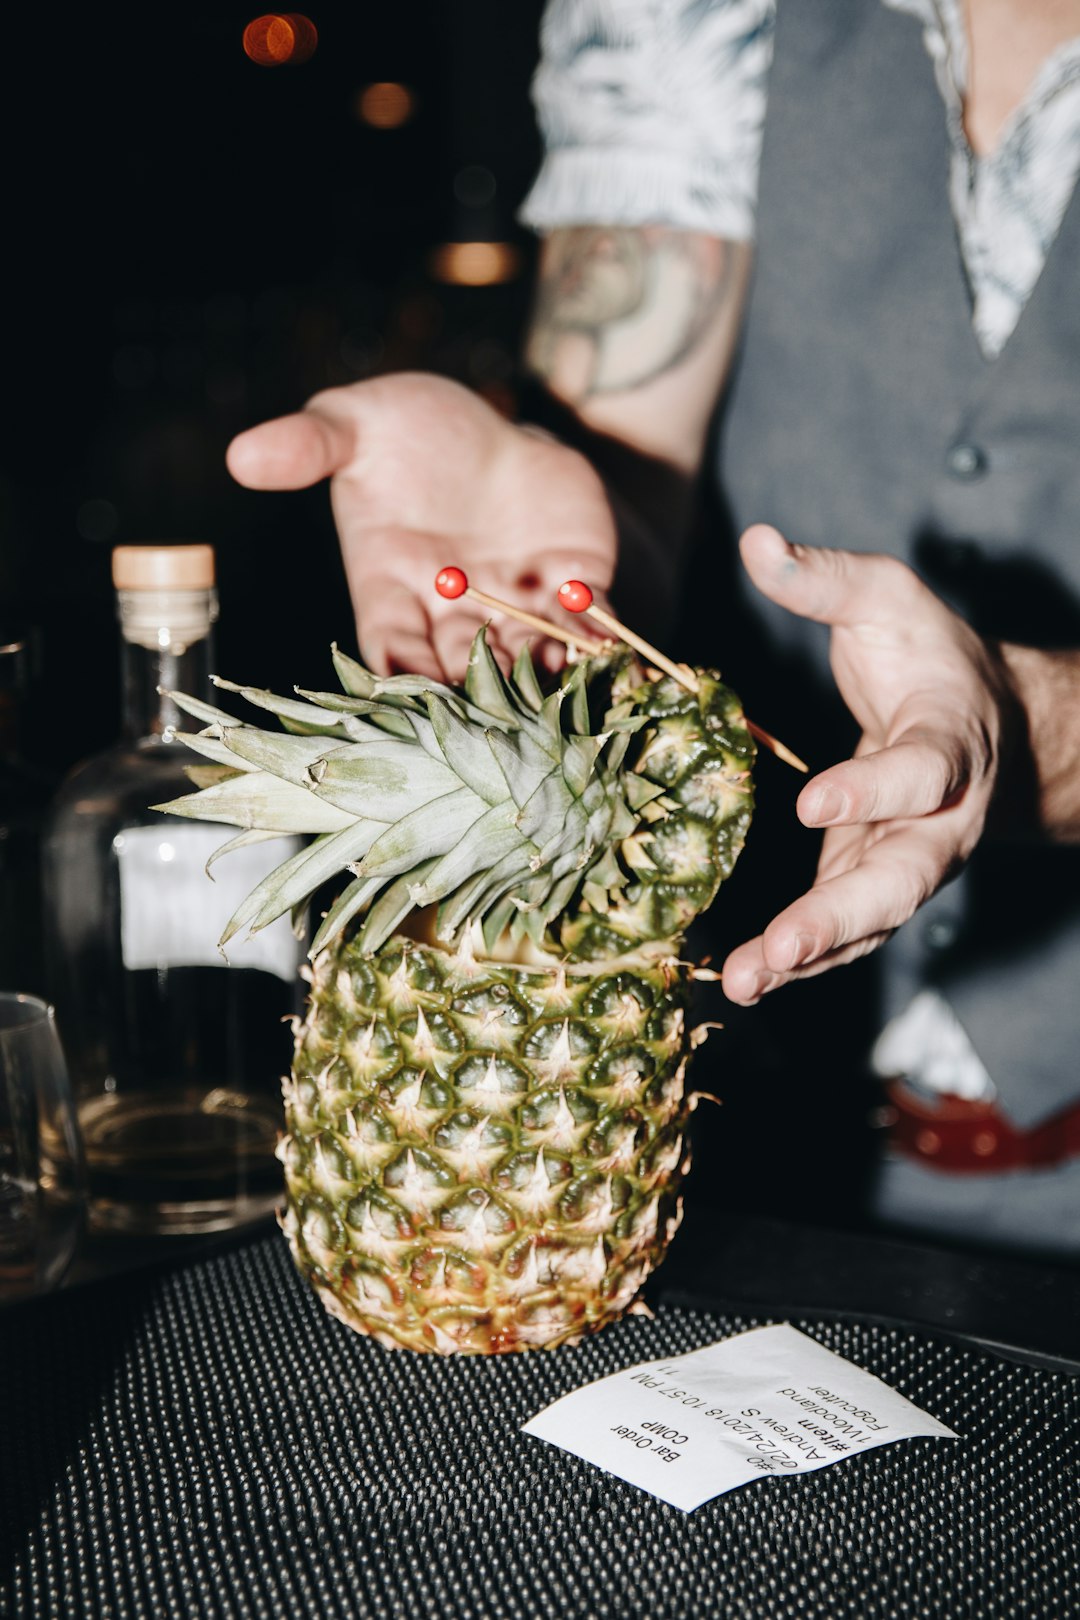
<instances>
[{"instance_id":1,"label":"clear glass bottle with pale stopper and white label, behind the pineapple","mask_svg":"<svg viewBox=\"0 0 1080 1620\"><path fill-rule=\"evenodd\" d=\"M210 546L120 546L123 735L78 766L45 834L45 943L86 1144L91 1225L217 1231L274 1209L280 1077L304 944L282 919L217 948L244 894L301 839L207 857L235 828L151 805L193 791L196 731L170 692L210 697Z\"/></svg>"}]
</instances>

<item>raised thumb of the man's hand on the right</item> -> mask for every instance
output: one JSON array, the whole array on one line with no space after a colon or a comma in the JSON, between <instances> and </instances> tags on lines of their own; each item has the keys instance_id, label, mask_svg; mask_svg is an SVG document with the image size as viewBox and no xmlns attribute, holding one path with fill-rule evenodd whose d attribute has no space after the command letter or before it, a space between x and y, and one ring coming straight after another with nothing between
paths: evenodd
<instances>
[{"instance_id":1,"label":"raised thumb of the man's hand on the right","mask_svg":"<svg viewBox=\"0 0 1080 1620\"><path fill-rule=\"evenodd\" d=\"M912 569L895 557L792 546L766 523L755 523L738 543L746 573L763 596L803 619L832 625L892 625L918 606L938 603Z\"/></svg>"}]
</instances>

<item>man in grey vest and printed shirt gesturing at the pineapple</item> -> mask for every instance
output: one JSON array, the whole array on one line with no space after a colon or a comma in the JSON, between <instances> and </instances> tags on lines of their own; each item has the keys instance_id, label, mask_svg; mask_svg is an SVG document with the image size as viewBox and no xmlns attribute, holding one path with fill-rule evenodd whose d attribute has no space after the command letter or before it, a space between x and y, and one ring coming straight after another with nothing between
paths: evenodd
<instances>
[{"instance_id":1,"label":"man in grey vest and printed shirt gesturing at the pineapple","mask_svg":"<svg viewBox=\"0 0 1080 1620\"><path fill-rule=\"evenodd\" d=\"M858 990L907 1082L878 1207L1080 1254L1077 857L980 846L991 805L1012 836L1077 836L1075 656L1048 650L1080 645L1080 0L567 0L538 99L541 431L384 377L241 436L230 467L330 475L368 659L453 674L476 619L427 598L439 565L541 612L578 575L643 622L678 596L708 454L735 533L800 543L750 528L767 601L716 601L719 650L753 624L776 680L738 666L751 713L842 758L798 799L827 828L814 881L724 988L753 1004L900 930ZM777 1074L792 1025L858 1066L836 998L797 1006L756 1025Z\"/></svg>"}]
</instances>

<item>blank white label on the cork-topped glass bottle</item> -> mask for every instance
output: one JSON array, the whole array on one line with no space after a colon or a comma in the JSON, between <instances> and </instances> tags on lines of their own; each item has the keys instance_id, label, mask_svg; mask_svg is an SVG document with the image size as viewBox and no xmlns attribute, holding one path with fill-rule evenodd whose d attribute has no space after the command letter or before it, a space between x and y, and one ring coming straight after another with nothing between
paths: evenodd
<instances>
[{"instance_id":1,"label":"blank white label on the cork-topped glass bottle","mask_svg":"<svg viewBox=\"0 0 1080 1620\"><path fill-rule=\"evenodd\" d=\"M296 838L275 838L223 855L207 876L206 863L235 828L175 825L133 826L118 833L113 849L120 865L120 944L123 966L142 967L259 967L290 983L303 961L303 944L288 915L253 938L230 940L227 957L217 948L228 919L257 883L301 849Z\"/></svg>"}]
</instances>

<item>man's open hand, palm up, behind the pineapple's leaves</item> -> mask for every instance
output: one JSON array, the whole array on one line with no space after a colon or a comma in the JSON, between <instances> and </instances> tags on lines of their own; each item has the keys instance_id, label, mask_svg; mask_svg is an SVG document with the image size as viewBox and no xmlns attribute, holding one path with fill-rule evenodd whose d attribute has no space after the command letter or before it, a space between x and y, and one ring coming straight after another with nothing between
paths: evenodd
<instances>
[{"instance_id":1,"label":"man's open hand, palm up, behind the pineapple's leaves","mask_svg":"<svg viewBox=\"0 0 1080 1620\"><path fill-rule=\"evenodd\" d=\"M555 595L565 578L597 595L612 582L615 522L585 457L444 377L400 373L329 389L295 416L241 433L227 460L251 489L330 480L359 646L381 674L463 676L486 614L436 595L445 564L567 625L575 620ZM492 646L512 659L529 633L504 617ZM565 658L554 640L534 653L552 667Z\"/></svg>"}]
</instances>

